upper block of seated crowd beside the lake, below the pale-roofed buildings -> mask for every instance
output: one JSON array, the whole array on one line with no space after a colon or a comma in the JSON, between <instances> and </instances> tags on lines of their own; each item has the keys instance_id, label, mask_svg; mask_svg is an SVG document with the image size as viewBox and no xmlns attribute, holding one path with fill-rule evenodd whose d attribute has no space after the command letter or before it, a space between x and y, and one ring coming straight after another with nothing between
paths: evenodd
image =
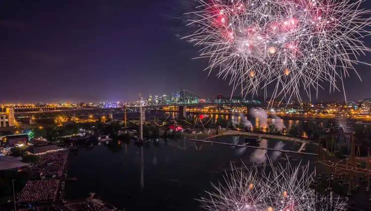
<instances>
[{"instance_id":1,"label":"upper block of seated crowd beside the lake, below the pale-roofed buildings","mask_svg":"<svg viewBox=\"0 0 371 211\"><path fill-rule=\"evenodd\" d=\"M63 170L67 154L66 151L60 151L41 155L39 161L30 165L28 170L33 178L40 178L41 173L45 177L58 175L58 172Z\"/></svg>"}]
</instances>

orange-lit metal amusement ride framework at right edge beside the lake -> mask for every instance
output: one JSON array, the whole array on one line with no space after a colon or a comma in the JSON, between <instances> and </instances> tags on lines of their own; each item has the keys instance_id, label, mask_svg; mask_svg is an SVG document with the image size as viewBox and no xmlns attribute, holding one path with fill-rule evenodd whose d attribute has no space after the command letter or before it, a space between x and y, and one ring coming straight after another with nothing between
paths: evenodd
<instances>
[{"instance_id":1,"label":"orange-lit metal amusement ride framework at right edge beside the lake","mask_svg":"<svg viewBox=\"0 0 371 211\"><path fill-rule=\"evenodd\" d=\"M351 146L350 154L344 159L335 157L338 152L337 141L341 140L342 136L349 137ZM357 197L357 200L371 201L370 149L367 148L367 157L361 157L360 145L355 144L354 140L354 132L334 133L319 139L317 163L321 172L317 175L315 183L320 183L329 193L332 190L346 194L348 197L353 196L353 199ZM370 210L370 207L365 207L366 209Z\"/></svg>"}]
</instances>

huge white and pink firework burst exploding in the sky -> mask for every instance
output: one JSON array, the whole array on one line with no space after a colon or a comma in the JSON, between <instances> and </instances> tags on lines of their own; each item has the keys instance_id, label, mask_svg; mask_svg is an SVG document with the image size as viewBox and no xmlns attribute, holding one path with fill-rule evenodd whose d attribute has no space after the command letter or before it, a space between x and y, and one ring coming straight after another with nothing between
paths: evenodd
<instances>
[{"instance_id":1,"label":"huge white and pink firework burst exploding in the sky","mask_svg":"<svg viewBox=\"0 0 371 211\"><path fill-rule=\"evenodd\" d=\"M362 42L371 34L364 0L198 1L187 13L197 30L185 39L202 46L210 72L230 75L233 92L241 87L245 95L266 94L272 84L272 98L301 99L300 87L311 98L322 82L329 82L330 92L340 90L338 82L363 63L357 56L370 51Z\"/></svg>"}]
</instances>

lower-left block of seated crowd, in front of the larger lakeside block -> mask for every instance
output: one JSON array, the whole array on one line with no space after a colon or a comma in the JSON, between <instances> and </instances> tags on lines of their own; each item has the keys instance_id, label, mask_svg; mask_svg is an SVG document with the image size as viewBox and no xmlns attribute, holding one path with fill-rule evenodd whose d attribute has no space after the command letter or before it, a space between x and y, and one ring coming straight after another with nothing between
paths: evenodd
<instances>
[{"instance_id":1,"label":"lower-left block of seated crowd, in front of the larger lakeside block","mask_svg":"<svg viewBox=\"0 0 371 211\"><path fill-rule=\"evenodd\" d=\"M58 191L59 179L30 180L18 194L18 203L54 201Z\"/></svg>"}]
</instances>

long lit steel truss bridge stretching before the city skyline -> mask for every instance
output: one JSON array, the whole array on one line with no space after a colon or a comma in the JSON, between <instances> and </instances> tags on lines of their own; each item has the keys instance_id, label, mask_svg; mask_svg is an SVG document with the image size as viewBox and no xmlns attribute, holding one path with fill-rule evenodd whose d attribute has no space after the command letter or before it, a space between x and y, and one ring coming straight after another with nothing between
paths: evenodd
<instances>
[{"instance_id":1,"label":"long lit steel truss bridge stretching before the city skyline","mask_svg":"<svg viewBox=\"0 0 371 211\"><path fill-rule=\"evenodd\" d=\"M147 110L155 109L166 106L178 106L179 118L184 118L186 115L186 106L208 106L208 105L245 105L245 106L260 106L259 101L254 100L235 100L235 99L205 99L197 96L187 90L180 90L173 95L160 97L157 100L145 101L143 107ZM51 108L45 107L40 108L41 110L34 111L17 111L25 110L27 108L15 108L15 116L32 116L33 119L48 119L57 118L58 116L89 116L89 115L110 115L125 112L139 112L139 103L127 104L122 107L113 108L83 108L83 107L71 107L71 108ZM29 109L35 109L31 107ZM39 108L37 108L39 109Z\"/></svg>"}]
</instances>

